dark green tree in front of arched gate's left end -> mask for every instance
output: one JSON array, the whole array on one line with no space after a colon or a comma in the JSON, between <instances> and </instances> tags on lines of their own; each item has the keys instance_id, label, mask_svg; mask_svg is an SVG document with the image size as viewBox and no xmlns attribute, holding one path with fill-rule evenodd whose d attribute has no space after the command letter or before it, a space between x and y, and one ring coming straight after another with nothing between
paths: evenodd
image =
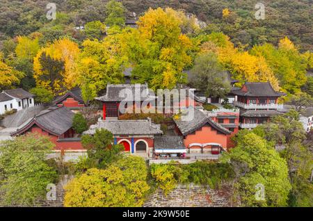
<instances>
[{"instance_id":1,"label":"dark green tree in front of arched gate's left end","mask_svg":"<svg viewBox=\"0 0 313 221\"><path fill-rule=\"evenodd\" d=\"M122 145L113 144L113 134L106 129L97 129L93 136L83 135L81 143L88 149L88 158L95 162L97 167L104 168L122 157Z\"/></svg>"}]
</instances>

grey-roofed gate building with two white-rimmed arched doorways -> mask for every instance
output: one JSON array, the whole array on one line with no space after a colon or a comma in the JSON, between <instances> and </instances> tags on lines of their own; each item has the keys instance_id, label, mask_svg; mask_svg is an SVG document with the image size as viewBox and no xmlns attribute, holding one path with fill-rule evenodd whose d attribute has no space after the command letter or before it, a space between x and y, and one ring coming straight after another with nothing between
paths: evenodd
<instances>
[{"instance_id":1,"label":"grey-roofed gate building with two white-rimmed arched doorways","mask_svg":"<svg viewBox=\"0 0 313 221\"><path fill-rule=\"evenodd\" d=\"M152 156L154 150L154 136L163 133L159 124L148 120L101 120L91 125L83 134L93 135L97 129L106 129L113 133L114 143L122 144L125 152L142 156Z\"/></svg>"}]
</instances>

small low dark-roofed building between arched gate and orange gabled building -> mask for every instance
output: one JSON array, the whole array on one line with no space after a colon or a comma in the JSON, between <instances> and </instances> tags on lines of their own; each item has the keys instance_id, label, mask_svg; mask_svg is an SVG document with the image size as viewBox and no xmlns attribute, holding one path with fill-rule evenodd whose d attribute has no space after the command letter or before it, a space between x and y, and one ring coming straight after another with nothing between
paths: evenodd
<instances>
[{"instance_id":1,"label":"small low dark-roofed building between arched gate and orange gabled building","mask_svg":"<svg viewBox=\"0 0 313 221\"><path fill-rule=\"evenodd\" d=\"M184 157L186 148L182 136L156 136L154 158Z\"/></svg>"}]
</instances>

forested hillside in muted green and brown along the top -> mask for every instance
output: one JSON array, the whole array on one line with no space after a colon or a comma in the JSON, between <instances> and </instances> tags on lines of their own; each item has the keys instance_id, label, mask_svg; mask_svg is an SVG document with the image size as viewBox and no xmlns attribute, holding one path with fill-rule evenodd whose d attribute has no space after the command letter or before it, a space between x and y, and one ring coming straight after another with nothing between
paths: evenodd
<instances>
[{"instance_id":1,"label":"forested hillside in muted green and brown along the top","mask_svg":"<svg viewBox=\"0 0 313 221\"><path fill-rule=\"evenodd\" d=\"M106 17L108 0L54 0L58 12L66 13L63 21L79 26ZM51 1L1 0L0 40L16 35L27 35L45 29L46 6ZM263 0L265 19L255 19L255 4L259 0L122 0L129 13L142 15L148 8L166 6L193 13L207 22L207 31L223 31L236 46L270 42L288 36L301 51L313 50L313 4L312 0ZM230 15L223 17L223 9ZM54 33L55 34L55 33Z\"/></svg>"}]
</instances>

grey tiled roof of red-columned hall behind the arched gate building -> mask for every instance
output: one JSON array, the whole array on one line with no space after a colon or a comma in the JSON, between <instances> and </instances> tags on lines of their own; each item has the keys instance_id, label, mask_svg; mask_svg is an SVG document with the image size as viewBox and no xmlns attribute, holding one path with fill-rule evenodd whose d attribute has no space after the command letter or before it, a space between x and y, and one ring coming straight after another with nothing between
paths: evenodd
<instances>
[{"instance_id":1,"label":"grey tiled roof of red-columned hall behind the arched gate building","mask_svg":"<svg viewBox=\"0 0 313 221\"><path fill-rule=\"evenodd\" d=\"M131 93L132 96L126 99L128 93ZM144 101L155 99L155 97L149 92L146 84L108 84L106 85L106 95L95 99L98 101Z\"/></svg>"}]
</instances>

